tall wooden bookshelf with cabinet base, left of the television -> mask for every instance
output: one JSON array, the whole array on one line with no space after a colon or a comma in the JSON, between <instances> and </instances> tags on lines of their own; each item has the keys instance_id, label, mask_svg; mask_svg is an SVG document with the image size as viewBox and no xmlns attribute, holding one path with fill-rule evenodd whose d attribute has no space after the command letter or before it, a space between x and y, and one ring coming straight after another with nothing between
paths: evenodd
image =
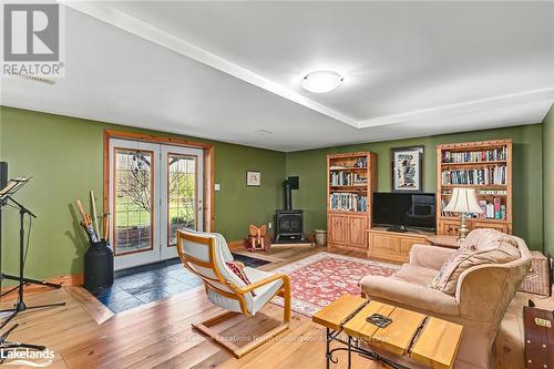
<instances>
[{"instance_id":1,"label":"tall wooden bookshelf with cabinet base, left of the television","mask_svg":"<svg viewBox=\"0 0 554 369\"><path fill-rule=\"evenodd\" d=\"M367 230L371 225L371 197L376 188L376 154L359 152L327 155L329 247L367 250Z\"/></svg>"}]
</instances>

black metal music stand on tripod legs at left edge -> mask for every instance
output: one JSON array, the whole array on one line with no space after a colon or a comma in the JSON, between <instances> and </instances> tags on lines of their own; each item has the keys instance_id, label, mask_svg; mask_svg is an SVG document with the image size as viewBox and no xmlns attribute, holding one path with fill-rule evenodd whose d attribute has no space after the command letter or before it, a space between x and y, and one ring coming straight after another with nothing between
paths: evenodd
<instances>
[{"instance_id":1,"label":"black metal music stand on tripod legs at left edge","mask_svg":"<svg viewBox=\"0 0 554 369\"><path fill-rule=\"evenodd\" d=\"M16 207L19 208L19 277L12 277L10 279L19 280L19 286L18 288L18 300L14 303L13 308L11 309L3 309L0 310L1 312L11 312L11 315L4 319L4 321L0 325L0 329L6 327L8 322L10 322L19 312L25 311L29 309L41 309L41 308L49 308L49 307L55 307L55 306L64 306L65 303L55 303L55 304L47 304L47 305L38 305L38 306L27 306L24 303L24 296L23 296L23 289L24 285L27 283L34 283L34 279L28 279L24 278L24 238L25 238L25 230L24 230L24 218L25 215L29 215L30 218L37 218L37 216L27 207L18 203L16 199L13 199L11 196L4 196L4 199L8 202L11 202ZM28 279L29 281L27 281ZM39 280L40 285L53 285L53 284L45 284ZM58 285L59 286L59 285ZM53 285L55 288L60 288L57 285ZM13 290L13 289L12 289ZM10 331L13 329L13 327L7 332L10 334ZM3 336L2 336L3 337ZM6 338L3 338L6 340ZM0 341L0 345L2 345L2 341ZM1 348L1 347L0 347Z\"/></svg>"}]
</instances>

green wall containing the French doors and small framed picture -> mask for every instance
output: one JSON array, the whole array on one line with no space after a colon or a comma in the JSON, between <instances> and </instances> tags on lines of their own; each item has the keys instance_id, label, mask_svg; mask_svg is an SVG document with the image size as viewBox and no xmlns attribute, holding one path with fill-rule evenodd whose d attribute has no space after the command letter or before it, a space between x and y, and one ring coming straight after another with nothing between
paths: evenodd
<instances>
[{"instance_id":1,"label":"green wall containing the French doors and small framed picture","mask_svg":"<svg viewBox=\"0 0 554 369\"><path fill-rule=\"evenodd\" d=\"M125 130L167 136L69 116L0 107L0 158L10 177L32 176L18 193L39 218L33 222L29 274L44 278L79 274L86 240L73 203L89 204L89 192L103 194L103 131ZM173 135L176 136L176 135ZM183 139L189 139L184 137ZM211 142L192 139L195 141ZM281 205L285 153L212 142L215 145L215 228L229 240L243 238L250 223L271 221ZM246 186L246 170L261 171L261 186ZM99 203L99 206L101 204ZM17 271L18 214L4 212L2 271Z\"/></svg>"}]
</instances>

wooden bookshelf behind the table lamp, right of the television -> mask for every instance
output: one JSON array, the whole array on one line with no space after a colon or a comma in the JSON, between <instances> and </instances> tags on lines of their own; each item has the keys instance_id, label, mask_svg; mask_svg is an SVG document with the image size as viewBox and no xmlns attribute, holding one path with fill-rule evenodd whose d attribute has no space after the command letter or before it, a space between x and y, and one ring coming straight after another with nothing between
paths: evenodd
<instances>
[{"instance_id":1,"label":"wooden bookshelf behind the table lamp, right of the television","mask_svg":"<svg viewBox=\"0 0 554 369\"><path fill-rule=\"evenodd\" d=\"M470 229L494 228L511 234L512 164L512 140L438 145L437 234L459 235L460 218L442 211L454 187L473 187L480 204L493 204L494 217L469 218ZM493 178L495 181L491 181ZM496 214L499 207L494 208L495 202L500 204L500 218Z\"/></svg>"}]
</instances>

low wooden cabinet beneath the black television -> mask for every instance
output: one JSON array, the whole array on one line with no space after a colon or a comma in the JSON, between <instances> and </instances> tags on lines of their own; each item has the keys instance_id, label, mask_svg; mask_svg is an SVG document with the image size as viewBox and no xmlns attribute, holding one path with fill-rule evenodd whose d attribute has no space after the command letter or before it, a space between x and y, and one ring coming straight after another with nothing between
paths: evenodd
<instances>
[{"instance_id":1,"label":"low wooden cabinet beneath the black television","mask_svg":"<svg viewBox=\"0 0 554 369\"><path fill-rule=\"evenodd\" d=\"M368 256L396 263L408 262L413 245L431 245L430 233L388 232L384 228L368 230Z\"/></svg>"}]
</instances>

